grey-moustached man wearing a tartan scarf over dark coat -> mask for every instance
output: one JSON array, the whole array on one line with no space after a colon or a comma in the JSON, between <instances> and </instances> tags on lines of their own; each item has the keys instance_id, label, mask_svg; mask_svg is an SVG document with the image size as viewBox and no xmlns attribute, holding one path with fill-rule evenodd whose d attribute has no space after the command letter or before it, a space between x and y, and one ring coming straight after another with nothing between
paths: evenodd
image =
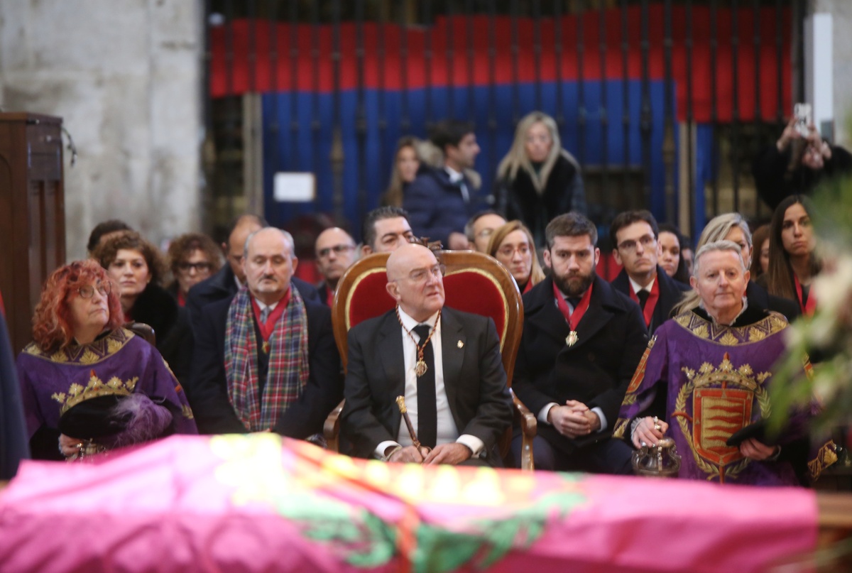
<instances>
[{"instance_id":1,"label":"grey-moustached man wearing a tartan scarf over dark coat","mask_svg":"<svg viewBox=\"0 0 852 573\"><path fill-rule=\"evenodd\" d=\"M343 397L331 310L291 279L293 238L267 227L245 240L245 286L204 307L191 379L201 433L322 431Z\"/></svg>"}]
</instances>

